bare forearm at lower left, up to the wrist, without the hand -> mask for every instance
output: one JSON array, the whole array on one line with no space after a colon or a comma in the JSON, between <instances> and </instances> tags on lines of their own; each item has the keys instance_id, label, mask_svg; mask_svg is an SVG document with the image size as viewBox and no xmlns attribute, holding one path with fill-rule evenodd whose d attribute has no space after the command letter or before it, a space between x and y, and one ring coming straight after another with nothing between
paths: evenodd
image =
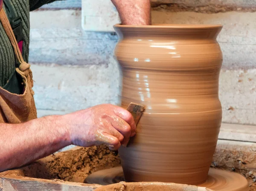
<instances>
[{"instance_id":1,"label":"bare forearm at lower left, up to the wrist, without the hand","mask_svg":"<svg viewBox=\"0 0 256 191\"><path fill-rule=\"evenodd\" d=\"M70 144L61 116L20 124L0 123L0 171L20 167Z\"/></svg>"}]
</instances>

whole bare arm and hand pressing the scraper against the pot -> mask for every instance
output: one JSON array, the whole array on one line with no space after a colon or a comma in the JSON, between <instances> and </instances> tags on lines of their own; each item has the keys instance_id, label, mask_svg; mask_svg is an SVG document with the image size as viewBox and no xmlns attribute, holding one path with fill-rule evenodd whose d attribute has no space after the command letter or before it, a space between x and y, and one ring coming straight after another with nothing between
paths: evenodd
<instances>
[{"instance_id":1,"label":"whole bare arm and hand pressing the scraper against the pot","mask_svg":"<svg viewBox=\"0 0 256 191\"><path fill-rule=\"evenodd\" d=\"M21 124L0 123L0 171L26 165L70 144L106 144L116 150L135 133L132 115L110 104Z\"/></svg>"}]
</instances>

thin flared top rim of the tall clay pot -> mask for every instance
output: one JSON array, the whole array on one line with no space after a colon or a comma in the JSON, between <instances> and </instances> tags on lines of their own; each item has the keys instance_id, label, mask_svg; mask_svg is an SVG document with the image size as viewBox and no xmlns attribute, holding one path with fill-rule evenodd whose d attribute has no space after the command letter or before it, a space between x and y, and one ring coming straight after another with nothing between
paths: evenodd
<instances>
[{"instance_id":1,"label":"thin flared top rim of the tall clay pot","mask_svg":"<svg viewBox=\"0 0 256 191\"><path fill-rule=\"evenodd\" d=\"M207 24L154 24L154 25L122 25L115 24L113 28L137 28L137 29L216 29L222 28L223 25L207 25Z\"/></svg>"}]
</instances>

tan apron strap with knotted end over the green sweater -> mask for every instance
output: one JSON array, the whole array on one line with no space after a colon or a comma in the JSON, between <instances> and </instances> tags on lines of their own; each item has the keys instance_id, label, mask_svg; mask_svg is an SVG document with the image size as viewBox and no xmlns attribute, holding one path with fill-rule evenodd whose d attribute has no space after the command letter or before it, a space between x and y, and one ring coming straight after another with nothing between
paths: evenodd
<instances>
[{"instance_id":1,"label":"tan apron strap with knotted end over the green sweater","mask_svg":"<svg viewBox=\"0 0 256 191\"><path fill-rule=\"evenodd\" d=\"M3 0L0 0L0 1L3 3ZM12 44L14 54L17 58L17 61L20 64L20 66L19 66L20 70L25 71L26 69L29 68L30 65L28 63L24 62L24 60L23 60L23 57L20 52L20 48L15 39L15 35L13 34L12 27L11 27L8 17L6 16L6 13L3 9L0 10L0 22L2 23L3 29L5 30L7 36Z\"/></svg>"}]
</instances>

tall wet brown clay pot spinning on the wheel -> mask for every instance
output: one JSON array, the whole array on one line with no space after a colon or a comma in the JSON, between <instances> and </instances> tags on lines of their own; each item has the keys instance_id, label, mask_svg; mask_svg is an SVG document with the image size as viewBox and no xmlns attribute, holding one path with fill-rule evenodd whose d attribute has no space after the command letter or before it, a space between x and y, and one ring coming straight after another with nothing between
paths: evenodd
<instances>
[{"instance_id":1,"label":"tall wet brown clay pot spinning on the wheel","mask_svg":"<svg viewBox=\"0 0 256 191\"><path fill-rule=\"evenodd\" d=\"M221 126L216 41L221 25L115 25L122 107L145 105L137 135L119 154L125 180L199 184Z\"/></svg>"}]
</instances>

